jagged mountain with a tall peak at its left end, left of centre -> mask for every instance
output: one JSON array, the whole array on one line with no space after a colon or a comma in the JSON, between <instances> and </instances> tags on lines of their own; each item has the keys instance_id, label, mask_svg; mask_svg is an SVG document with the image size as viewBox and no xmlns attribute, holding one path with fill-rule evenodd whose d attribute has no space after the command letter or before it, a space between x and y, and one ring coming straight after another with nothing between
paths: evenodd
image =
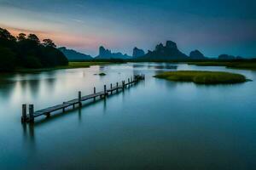
<instances>
[{"instance_id":1,"label":"jagged mountain with a tall peak at its left end, left of centre","mask_svg":"<svg viewBox=\"0 0 256 170\"><path fill-rule=\"evenodd\" d=\"M99 55L95 59L131 59L131 56L121 53L112 53L111 50L104 47L99 48Z\"/></svg>"}]
</instances>

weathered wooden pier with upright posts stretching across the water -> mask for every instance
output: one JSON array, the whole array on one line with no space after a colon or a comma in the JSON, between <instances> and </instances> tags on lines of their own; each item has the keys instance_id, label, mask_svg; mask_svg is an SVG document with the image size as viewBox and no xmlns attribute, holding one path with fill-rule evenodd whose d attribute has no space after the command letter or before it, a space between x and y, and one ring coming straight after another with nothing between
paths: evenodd
<instances>
[{"instance_id":1,"label":"weathered wooden pier with upright posts stretching across the water","mask_svg":"<svg viewBox=\"0 0 256 170\"><path fill-rule=\"evenodd\" d=\"M38 116L50 116L50 114L54 111L62 110L65 112L65 109L67 107L73 106L73 109L75 108L75 105L79 105L79 107L82 107L82 102L88 99L96 99L97 97L106 98L109 94L113 94L113 92L118 92L119 89L125 90L126 86L129 86L133 83L137 83L139 81L142 81L145 79L145 75L135 75L134 77L128 78L128 81L122 81L121 84L116 82L113 86L113 84L110 84L110 88L107 88L106 85L104 85L104 90L101 92L96 93L96 88L94 88L94 93L82 96L81 92L79 91L79 98L78 99L71 99L69 101L63 102L60 105L54 105L48 108L45 108L43 110L34 111L34 105L29 105L28 107L28 114L26 111L26 104L22 105L22 116L21 116L21 122L34 122L34 119Z\"/></svg>"}]
</instances>

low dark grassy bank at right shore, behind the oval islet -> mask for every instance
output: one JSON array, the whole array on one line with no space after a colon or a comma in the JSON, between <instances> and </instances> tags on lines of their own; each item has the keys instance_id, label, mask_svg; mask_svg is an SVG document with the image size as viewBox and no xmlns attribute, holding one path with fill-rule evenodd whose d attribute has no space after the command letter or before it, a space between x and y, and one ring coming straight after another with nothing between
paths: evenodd
<instances>
[{"instance_id":1,"label":"low dark grassy bank at right shore, behind the oval islet","mask_svg":"<svg viewBox=\"0 0 256 170\"><path fill-rule=\"evenodd\" d=\"M256 61L191 61L189 65L201 66L226 66L234 69L245 69L256 71Z\"/></svg>"}]
</instances>

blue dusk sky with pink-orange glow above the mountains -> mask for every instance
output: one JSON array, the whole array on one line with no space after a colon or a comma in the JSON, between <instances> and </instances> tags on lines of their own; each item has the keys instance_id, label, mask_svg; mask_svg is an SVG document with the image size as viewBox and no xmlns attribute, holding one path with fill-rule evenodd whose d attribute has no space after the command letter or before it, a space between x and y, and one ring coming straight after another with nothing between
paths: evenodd
<instances>
[{"instance_id":1,"label":"blue dusk sky with pink-orange glow above the mountains","mask_svg":"<svg viewBox=\"0 0 256 170\"><path fill-rule=\"evenodd\" d=\"M249 57L255 8L255 0L0 0L0 26L93 56L100 45L131 54L172 40L186 54Z\"/></svg>"}]
</instances>

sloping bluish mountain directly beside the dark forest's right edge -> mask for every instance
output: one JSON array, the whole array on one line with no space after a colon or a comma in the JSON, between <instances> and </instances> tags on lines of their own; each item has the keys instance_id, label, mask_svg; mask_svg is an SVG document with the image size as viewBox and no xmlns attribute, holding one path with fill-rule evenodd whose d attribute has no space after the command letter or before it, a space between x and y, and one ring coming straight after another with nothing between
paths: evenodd
<instances>
[{"instance_id":1,"label":"sloping bluish mountain directly beside the dark forest's right edge","mask_svg":"<svg viewBox=\"0 0 256 170\"><path fill-rule=\"evenodd\" d=\"M67 49L65 47L62 47L62 48L59 48L59 50L67 57L68 60L93 59L90 55L79 53L73 49Z\"/></svg>"}]
</instances>

